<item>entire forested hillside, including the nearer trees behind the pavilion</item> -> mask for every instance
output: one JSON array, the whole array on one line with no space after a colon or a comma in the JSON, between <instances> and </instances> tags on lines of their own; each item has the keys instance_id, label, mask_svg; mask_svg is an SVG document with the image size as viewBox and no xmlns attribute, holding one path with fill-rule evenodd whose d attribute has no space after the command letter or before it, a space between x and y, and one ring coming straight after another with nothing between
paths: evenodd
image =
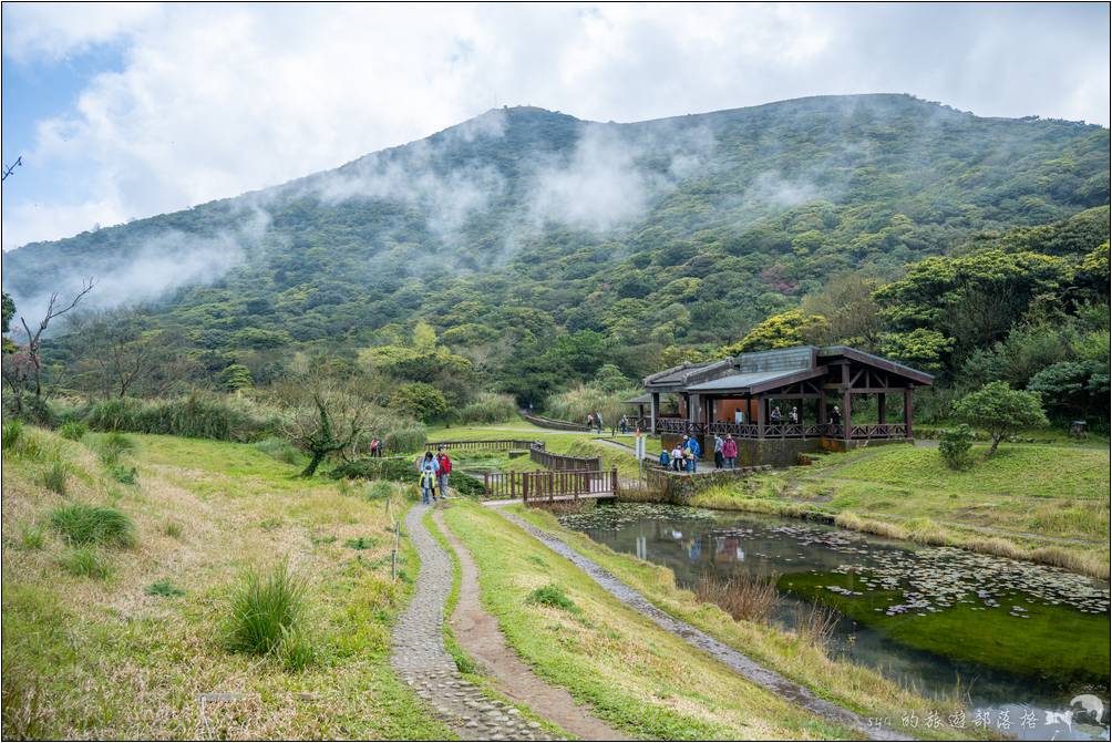
<instances>
[{"instance_id":1,"label":"entire forested hillside, including the nearer trees behind the pavilion","mask_svg":"<svg viewBox=\"0 0 1112 743\"><path fill-rule=\"evenodd\" d=\"M102 329L158 334L179 376L231 388L327 350L453 405L483 387L539 404L604 365L635 378L801 340L956 385L1006 365L1023 328L1074 339L1040 340L1014 384L1089 364L1078 338L1103 331L1106 388L1109 145L1101 127L909 96L628 125L494 110L284 186L24 246L4 290L33 318L96 276L88 306L146 303ZM1082 387L1101 374L1070 368Z\"/></svg>"}]
</instances>

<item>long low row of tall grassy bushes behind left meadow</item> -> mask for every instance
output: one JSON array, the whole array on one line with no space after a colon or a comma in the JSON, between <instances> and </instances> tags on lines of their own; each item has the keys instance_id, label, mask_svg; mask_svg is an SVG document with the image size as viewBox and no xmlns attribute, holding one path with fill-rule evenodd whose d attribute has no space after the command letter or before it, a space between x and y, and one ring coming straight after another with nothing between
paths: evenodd
<instances>
[{"instance_id":1,"label":"long low row of tall grassy bushes behind left meadow","mask_svg":"<svg viewBox=\"0 0 1112 743\"><path fill-rule=\"evenodd\" d=\"M171 434L227 442L256 440L278 428L272 410L242 398L199 393L172 399L100 400L88 408L83 419L96 430Z\"/></svg>"}]
</instances>

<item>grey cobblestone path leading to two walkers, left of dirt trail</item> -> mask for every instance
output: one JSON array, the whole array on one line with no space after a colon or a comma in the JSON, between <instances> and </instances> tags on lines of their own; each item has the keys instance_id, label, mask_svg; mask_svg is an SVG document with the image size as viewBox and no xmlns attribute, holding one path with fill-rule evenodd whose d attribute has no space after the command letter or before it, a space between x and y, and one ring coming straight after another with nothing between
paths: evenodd
<instances>
[{"instance_id":1,"label":"grey cobblestone path leading to two walkers, left of dirt trail","mask_svg":"<svg viewBox=\"0 0 1112 743\"><path fill-rule=\"evenodd\" d=\"M489 699L460 677L444 648L444 607L451 591L451 562L420 519L428 506L414 506L406 531L420 555L417 590L394 627L395 671L457 735L468 741L549 740L537 722L523 720L513 705Z\"/></svg>"}]
</instances>

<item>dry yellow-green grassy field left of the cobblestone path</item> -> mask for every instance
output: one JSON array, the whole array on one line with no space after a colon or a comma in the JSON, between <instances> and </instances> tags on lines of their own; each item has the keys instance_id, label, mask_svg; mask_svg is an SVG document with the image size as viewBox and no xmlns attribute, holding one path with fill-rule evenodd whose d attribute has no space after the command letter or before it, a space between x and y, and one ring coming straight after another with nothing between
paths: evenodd
<instances>
[{"instance_id":1,"label":"dry yellow-green grassy field left of the cobblestone path","mask_svg":"<svg viewBox=\"0 0 1112 743\"><path fill-rule=\"evenodd\" d=\"M391 583L396 488L295 479L248 445L126 440L116 470L105 436L6 440L6 737L451 736L389 666L415 559ZM130 542L62 532L82 504L122 514ZM297 644L231 652L245 571L282 558L305 583Z\"/></svg>"}]
</instances>

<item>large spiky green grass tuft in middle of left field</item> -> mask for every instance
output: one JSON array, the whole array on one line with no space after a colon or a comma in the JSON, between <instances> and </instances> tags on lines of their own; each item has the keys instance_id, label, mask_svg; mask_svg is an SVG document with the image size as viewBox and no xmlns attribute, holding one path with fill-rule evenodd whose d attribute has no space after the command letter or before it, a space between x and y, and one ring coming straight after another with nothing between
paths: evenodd
<instances>
[{"instance_id":1,"label":"large spiky green grass tuft in middle of left field","mask_svg":"<svg viewBox=\"0 0 1112 743\"><path fill-rule=\"evenodd\" d=\"M247 571L228 606L228 650L255 655L274 652L302 622L305 594L305 581L286 561L266 571Z\"/></svg>"}]
</instances>

